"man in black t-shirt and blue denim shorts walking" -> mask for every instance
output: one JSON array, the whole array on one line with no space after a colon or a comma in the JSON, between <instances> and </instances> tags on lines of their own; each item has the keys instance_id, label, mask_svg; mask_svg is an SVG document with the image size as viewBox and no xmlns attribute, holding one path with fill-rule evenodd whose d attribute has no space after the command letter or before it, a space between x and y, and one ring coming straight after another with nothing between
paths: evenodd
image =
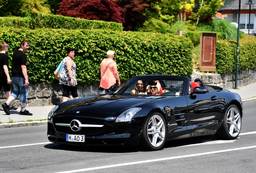
<instances>
[{"instance_id":1,"label":"man in black t-shirt and blue denim shorts walking","mask_svg":"<svg viewBox=\"0 0 256 173\"><path fill-rule=\"evenodd\" d=\"M20 96L20 115L33 115L25 109L29 89L29 78L27 75L27 55L24 53L29 49L29 41L22 40L21 47L12 55L12 84L13 93L8 97L6 103L2 104L4 112L10 115L9 105Z\"/></svg>"}]
</instances>

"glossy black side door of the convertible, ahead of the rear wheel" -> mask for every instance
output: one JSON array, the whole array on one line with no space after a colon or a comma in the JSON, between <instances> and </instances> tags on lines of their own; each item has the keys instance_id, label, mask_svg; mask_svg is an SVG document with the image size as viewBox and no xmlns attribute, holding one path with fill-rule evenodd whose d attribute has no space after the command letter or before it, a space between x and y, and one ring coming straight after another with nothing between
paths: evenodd
<instances>
[{"instance_id":1,"label":"glossy black side door of the convertible, ahead of the rear wheel","mask_svg":"<svg viewBox=\"0 0 256 173\"><path fill-rule=\"evenodd\" d=\"M192 94L186 98L188 131L211 127L221 121L225 105L217 93Z\"/></svg>"}]
</instances>

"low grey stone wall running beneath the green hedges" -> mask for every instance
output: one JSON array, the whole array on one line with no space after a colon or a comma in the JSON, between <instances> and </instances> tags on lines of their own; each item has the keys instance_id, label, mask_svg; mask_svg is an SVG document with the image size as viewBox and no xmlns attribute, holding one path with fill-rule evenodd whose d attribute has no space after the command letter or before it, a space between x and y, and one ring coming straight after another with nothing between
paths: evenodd
<instances>
[{"instance_id":1,"label":"low grey stone wall running beneath the green hedges","mask_svg":"<svg viewBox=\"0 0 256 173\"><path fill-rule=\"evenodd\" d=\"M228 73L221 76L221 74L201 74L194 72L191 75L191 80L195 78L202 78L205 84L216 85L225 89L233 89L235 87L235 73ZM242 87L246 84L253 83L256 80L256 68L252 70L245 70L239 72L237 87ZM98 85L86 85L84 87L78 86L78 96L86 97L91 95L103 94L105 91L99 91ZM70 96L72 99L72 96ZM2 88L0 94L0 103L6 101L5 92ZM62 102L62 86L59 84L45 84L29 85L29 95L27 98L27 106L43 106L43 105L58 105ZM19 106L19 98L13 102Z\"/></svg>"}]
</instances>

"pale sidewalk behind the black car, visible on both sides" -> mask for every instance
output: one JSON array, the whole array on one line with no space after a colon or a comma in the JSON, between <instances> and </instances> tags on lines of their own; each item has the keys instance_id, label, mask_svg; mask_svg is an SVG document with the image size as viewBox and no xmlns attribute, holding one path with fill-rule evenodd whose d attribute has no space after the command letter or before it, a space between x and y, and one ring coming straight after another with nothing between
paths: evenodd
<instances>
[{"instance_id":1,"label":"pale sidewalk behind the black car, visible on both sides","mask_svg":"<svg viewBox=\"0 0 256 173\"><path fill-rule=\"evenodd\" d=\"M233 93L237 93L242 98L243 102L256 100L256 82L252 84L239 87L238 89L229 89ZM10 112L10 115L6 115L2 106L0 106L0 129L10 128L10 127L24 127L24 126L37 126L37 125L47 125L47 120L45 121L35 121L47 119L48 113L55 107L55 105L50 106L39 106L39 107L26 107L26 109L33 113L32 116L19 115L21 107L19 107L17 112ZM8 123L8 122L19 122L19 121L32 121L32 122L19 122L19 123Z\"/></svg>"}]
</instances>

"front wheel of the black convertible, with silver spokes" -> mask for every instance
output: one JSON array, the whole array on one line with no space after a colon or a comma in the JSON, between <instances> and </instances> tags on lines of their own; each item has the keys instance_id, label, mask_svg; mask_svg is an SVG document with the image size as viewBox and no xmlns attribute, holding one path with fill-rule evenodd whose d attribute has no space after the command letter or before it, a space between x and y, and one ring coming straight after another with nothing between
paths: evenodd
<instances>
[{"instance_id":1,"label":"front wheel of the black convertible, with silver spokes","mask_svg":"<svg viewBox=\"0 0 256 173\"><path fill-rule=\"evenodd\" d=\"M156 151L163 147L166 139L166 122L158 112L149 115L141 134L140 147Z\"/></svg>"}]
</instances>

